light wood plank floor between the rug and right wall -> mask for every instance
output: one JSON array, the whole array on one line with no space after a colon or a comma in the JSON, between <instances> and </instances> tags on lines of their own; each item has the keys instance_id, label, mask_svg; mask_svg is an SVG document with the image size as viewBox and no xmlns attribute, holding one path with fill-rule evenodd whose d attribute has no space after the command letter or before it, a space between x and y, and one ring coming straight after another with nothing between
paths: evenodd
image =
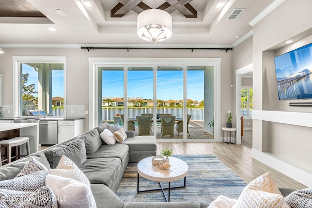
<instances>
[{"instance_id":1,"label":"light wood plank floor between the rug and right wall","mask_svg":"<svg viewBox=\"0 0 312 208\"><path fill-rule=\"evenodd\" d=\"M256 177L270 172L276 185L280 188L307 188L292 178L255 160L251 156L251 149L242 145L227 145L223 142L157 142L157 154L160 154L160 150L166 147L173 149L173 154L213 154L247 184Z\"/></svg>"}]
</instances>

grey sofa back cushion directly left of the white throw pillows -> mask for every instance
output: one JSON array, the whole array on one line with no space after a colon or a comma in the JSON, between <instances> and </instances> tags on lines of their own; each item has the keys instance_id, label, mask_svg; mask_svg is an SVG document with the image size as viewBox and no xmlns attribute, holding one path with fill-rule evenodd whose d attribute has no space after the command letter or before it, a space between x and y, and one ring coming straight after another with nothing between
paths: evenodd
<instances>
[{"instance_id":1,"label":"grey sofa back cushion directly left of the white throw pillows","mask_svg":"<svg viewBox=\"0 0 312 208\"><path fill-rule=\"evenodd\" d=\"M87 155L93 154L102 145L101 138L97 129L92 129L79 135L77 138L83 139Z\"/></svg>"}]
</instances>

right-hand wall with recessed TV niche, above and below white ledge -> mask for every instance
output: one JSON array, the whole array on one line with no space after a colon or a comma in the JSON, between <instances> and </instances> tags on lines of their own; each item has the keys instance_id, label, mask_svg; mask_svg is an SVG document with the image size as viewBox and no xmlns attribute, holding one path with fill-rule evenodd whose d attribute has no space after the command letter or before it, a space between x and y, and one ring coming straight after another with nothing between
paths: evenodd
<instances>
[{"instance_id":1,"label":"right-hand wall with recessed TV niche, above and below white ledge","mask_svg":"<svg viewBox=\"0 0 312 208\"><path fill-rule=\"evenodd\" d=\"M312 108L293 108L287 106L289 100L278 100L273 60L276 54L290 49L280 49L286 40L312 34L309 32L312 28L312 21L309 21L312 19L311 8L311 0L300 0L300 3L297 0L286 0L254 25L254 110L312 112ZM293 43L293 46L303 46L298 42L300 41ZM277 49L280 50L277 52ZM278 158L274 164L276 166L279 165L279 161L286 161L288 164L295 164L295 167L311 167L311 128L261 119L254 120L253 126L254 152L269 152ZM262 158L260 156L256 159ZM290 171L284 173L288 174ZM300 172L296 175L298 178L295 179L300 181ZM312 184L312 180L309 184Z\"/></svg>"}]
</instances>

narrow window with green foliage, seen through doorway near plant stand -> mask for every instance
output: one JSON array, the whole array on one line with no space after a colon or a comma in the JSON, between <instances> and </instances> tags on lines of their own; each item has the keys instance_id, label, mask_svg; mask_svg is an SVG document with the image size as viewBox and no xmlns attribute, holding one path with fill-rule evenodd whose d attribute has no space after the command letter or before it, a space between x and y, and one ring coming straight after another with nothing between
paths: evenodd
<instances>
[{"instance_id":1,"label":"narrow window with green foliage, seen through doorway near plant stand","mask_svg":"<svg viewBox=\"0 0 312 208\"><path fill-rule=\"evenodd\" d=\"M251 87L242 87L240 112L246 118L253 116L253 89Z\"/></svg>"}]
</instances>

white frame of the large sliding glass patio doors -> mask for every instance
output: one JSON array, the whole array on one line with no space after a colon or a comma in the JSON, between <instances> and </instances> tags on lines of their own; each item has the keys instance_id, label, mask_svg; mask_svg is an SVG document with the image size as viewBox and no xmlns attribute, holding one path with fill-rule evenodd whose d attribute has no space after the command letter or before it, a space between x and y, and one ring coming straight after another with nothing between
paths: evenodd
<instances>
[{"instance_id":1,"label":"white frame of the large sliding glass patio doors","mask_svg":"<svg viewBox=\"0 0 312 208\"><path fill-rule=\"evenodd\" d=\"M138 64L139 63L139 64ZM97 86L98 79L96 78L97 70L99 66L102 65L114 65L117 64L120 66L125 65L151 65L154 64L154 111L156 112L156 65L166 65L166 66L184 66L187 69L187 66L212 66L215 70L214 80L215 80L215 118L216 115L220 115L220 103L221 103L221 93L220 93L220 78L221 78L221 58L104 58L104 57L89 57L89 129L92 129L97 126L97 109L96 105L98 103L97 96ZM186 112L186 111L185 111ZM156 119L156 118L154 118ZM215 121L215 138L217 139L157 139L157 141L167 141L167 142L178 142L178 141L222 141L222 137L220 135L220 119L216 119ZM156 126L154 126L154 132L156 130ZM156 134L154 134L156 136Z\"/></svg>"}]
</instances>

